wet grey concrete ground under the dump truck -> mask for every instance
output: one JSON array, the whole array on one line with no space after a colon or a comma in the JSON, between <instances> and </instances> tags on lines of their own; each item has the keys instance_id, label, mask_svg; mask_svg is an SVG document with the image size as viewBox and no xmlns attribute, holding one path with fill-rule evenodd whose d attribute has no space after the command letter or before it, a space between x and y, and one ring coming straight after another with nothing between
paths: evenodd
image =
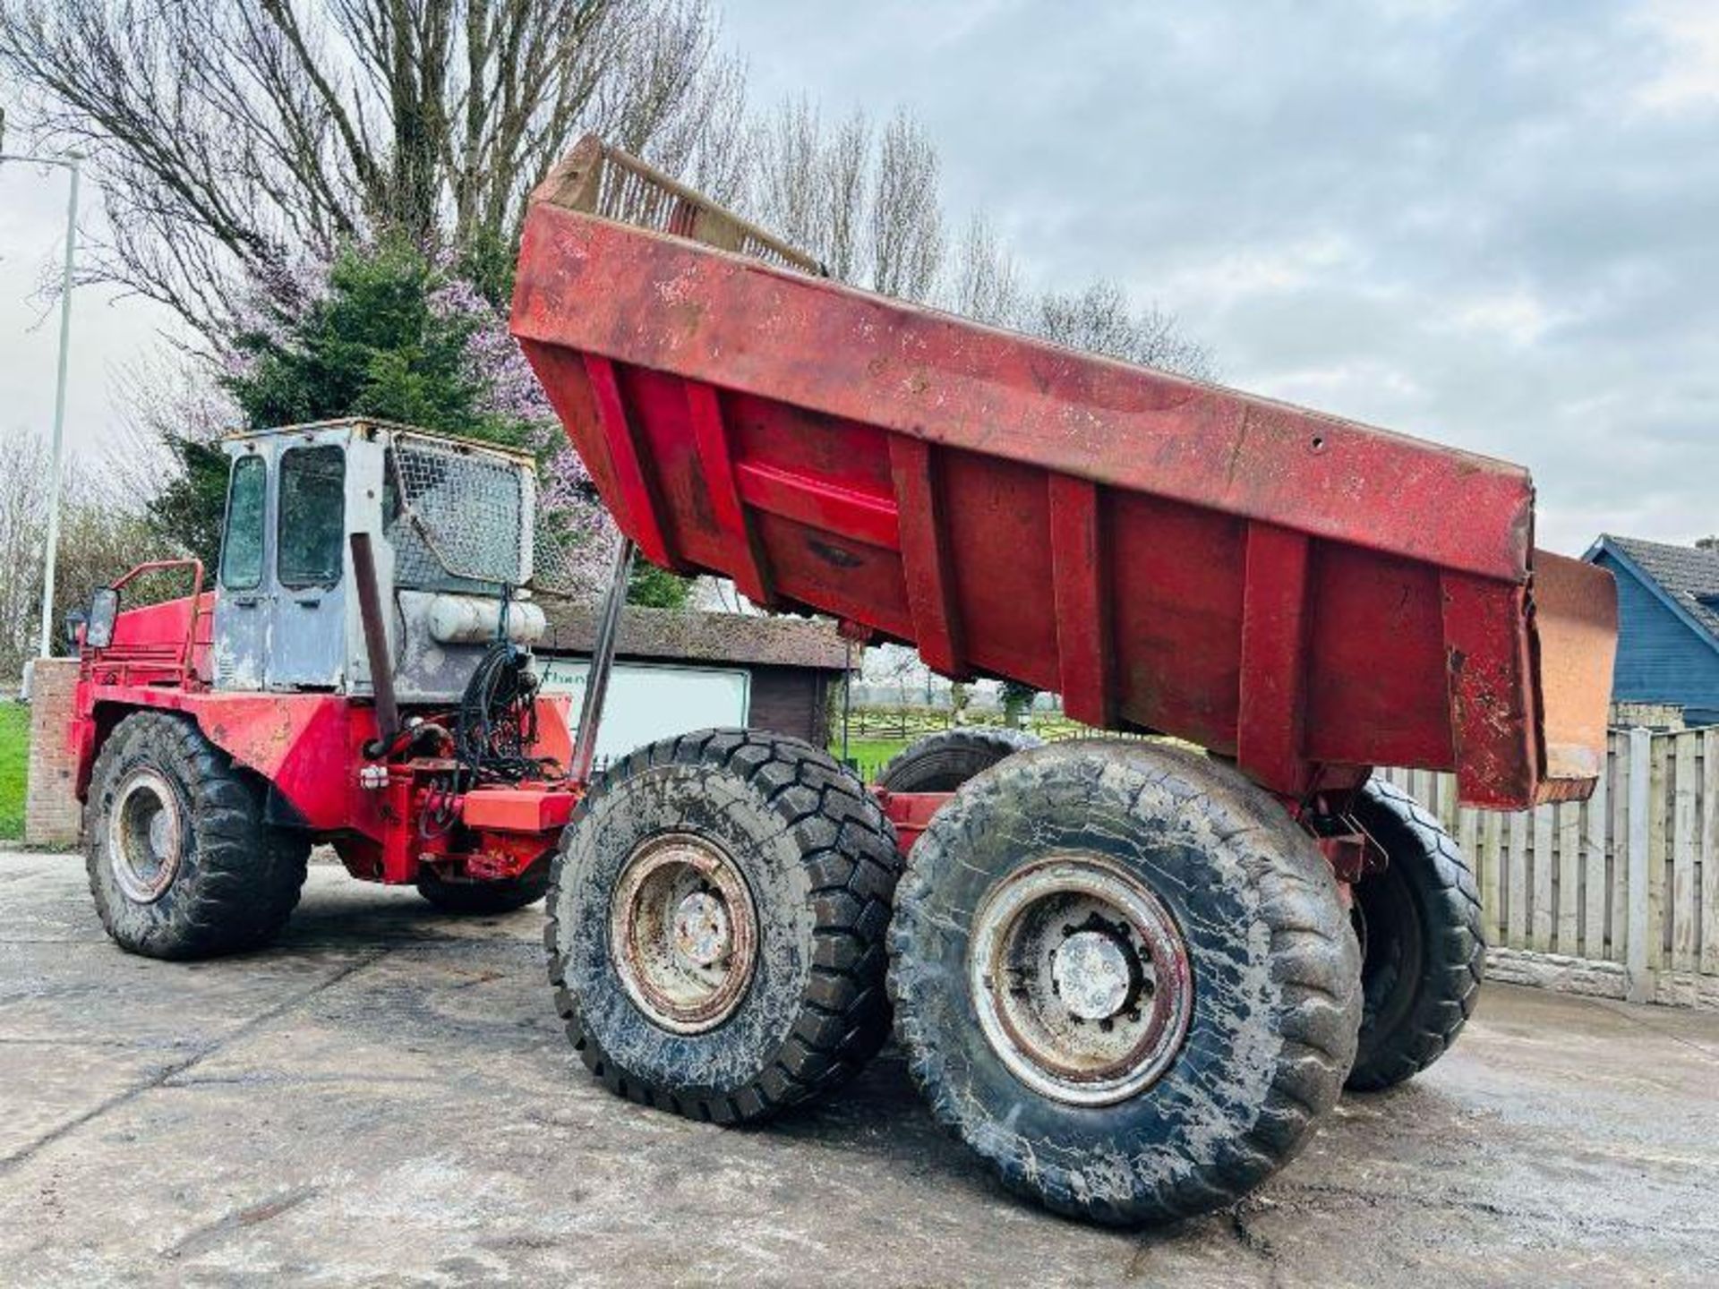
<instances>
[{"instance_id":1,"label":"wet grey concrete ground under the dump truck","mask_svg":"<svg viewBox=\"0 0 1719 1289\"><path fill-rule=\"evenodd\" d=\"M0 1280L1719 1282L1719 1016L1492 987L1236 1210L1110 1232L1004 1194L892 1054L767 1129L610 1098L540 918L313 868L277 949L177 966L79 859L0 856Z\"/></svg>"}]
</instances>

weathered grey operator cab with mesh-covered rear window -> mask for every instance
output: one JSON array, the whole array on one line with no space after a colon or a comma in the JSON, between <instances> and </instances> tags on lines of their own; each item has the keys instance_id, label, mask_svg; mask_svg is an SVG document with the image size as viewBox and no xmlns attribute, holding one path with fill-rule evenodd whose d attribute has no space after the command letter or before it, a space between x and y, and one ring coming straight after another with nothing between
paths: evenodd
<instances>
[{"instance_id":1,"label":"weathered grey operator cab with mesh-covered rear window","mask_svg":"<svg viewBox=\"0 0 1719 1289\"><path fill-rule=\"evenodd\" d=\"M222 440L232 457L213 686L370 694L352 536L368 533L401 703L461 696L504 634L543 636L531 457L383 421Z\"/></svg>"}]
</instances>

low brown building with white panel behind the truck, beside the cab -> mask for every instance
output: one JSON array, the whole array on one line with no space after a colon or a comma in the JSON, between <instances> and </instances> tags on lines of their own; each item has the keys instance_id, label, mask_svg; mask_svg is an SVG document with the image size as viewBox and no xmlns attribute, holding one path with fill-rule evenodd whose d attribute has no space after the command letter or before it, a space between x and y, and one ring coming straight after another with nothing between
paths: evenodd
<instances>
[{"instance_id":1,"label":"low brown building with white panel behind the truck, beside the cab","mask_svg":"<svg viewBox=\"0 0 1719 1289\"><path fill-rule=\"evenodd\" d=\"M535 651L548 682L583 686L598 610L545 603L548 629ZM615 677L598 754L610 756L710 724L744 724L823 748L832 686L847 643L823 619L694 614L629 607L621 619ZM734 684L734 677L744 682Z\"/></svg>"}]
</instances>

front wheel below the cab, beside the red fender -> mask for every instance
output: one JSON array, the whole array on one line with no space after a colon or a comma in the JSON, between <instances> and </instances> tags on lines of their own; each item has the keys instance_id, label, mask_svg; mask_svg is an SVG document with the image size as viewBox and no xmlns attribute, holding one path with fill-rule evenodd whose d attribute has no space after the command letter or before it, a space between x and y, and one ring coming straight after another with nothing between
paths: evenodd
<instances>
[{"instance_id":1,"label":"front wheel below the cab, beside the red fender","mask_svg":"<svg viewBox=\"0 0 1719 1289\"><path fill-rule=\"evenodd\" d=\"M309 840L263 823L260 785L191 720L136 712L96 756L84 809L96 913L120 949L211 957L278 935Z\"/></svg>"}]
</instances>

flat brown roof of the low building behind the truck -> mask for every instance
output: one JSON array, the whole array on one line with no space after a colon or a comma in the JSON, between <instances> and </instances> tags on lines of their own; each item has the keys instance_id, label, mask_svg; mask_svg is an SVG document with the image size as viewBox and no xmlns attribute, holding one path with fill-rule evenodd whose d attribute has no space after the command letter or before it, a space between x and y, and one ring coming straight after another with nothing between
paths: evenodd
<instances>
[{"instance_id":1,"label":"flat brown roof of the low building behind the truck","mask_svg":"<svg viewBox=\"0 0 1719 1289\"><path fill-rule=\"evenodd\" d=\"M596 643L595 607L540 603L548 615L540 651L591 651ZM622 658L806 667L823 672L847 667L847 643L827 619L691 614L672 608L627 607L621 617L617 653Z\"/></svg>"}]
</instances>

